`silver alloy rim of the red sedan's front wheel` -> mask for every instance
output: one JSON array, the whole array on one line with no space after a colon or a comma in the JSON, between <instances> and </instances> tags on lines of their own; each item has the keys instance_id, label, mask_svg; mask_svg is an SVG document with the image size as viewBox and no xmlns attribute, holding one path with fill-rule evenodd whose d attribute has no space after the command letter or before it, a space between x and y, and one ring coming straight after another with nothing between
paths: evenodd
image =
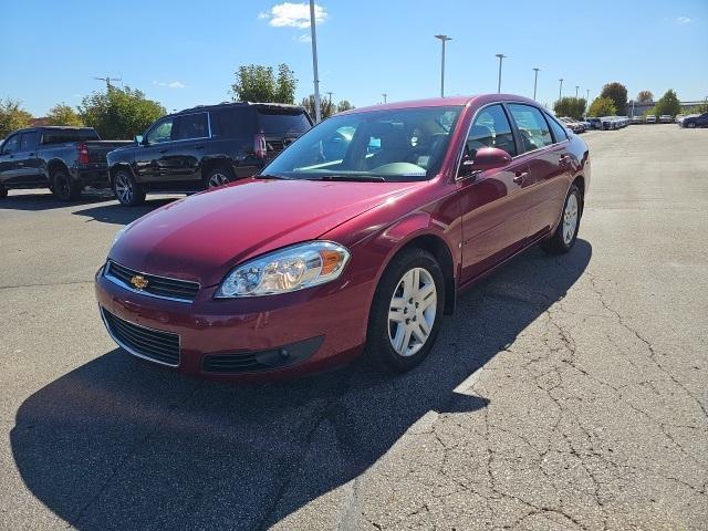
<instances>
[{"instance_id":1,"label":"silver alloy rim of the red sedan's front wheel","mask_svg":"<svg viewBox=\"0 0 708 531\"><path fill-rule=\"evenodd\" d=\"M414 268L398 281L388 309L388 340L400 356L416 354L428 341L437 312L433 275Z\"/></svg>"}]
</instances>

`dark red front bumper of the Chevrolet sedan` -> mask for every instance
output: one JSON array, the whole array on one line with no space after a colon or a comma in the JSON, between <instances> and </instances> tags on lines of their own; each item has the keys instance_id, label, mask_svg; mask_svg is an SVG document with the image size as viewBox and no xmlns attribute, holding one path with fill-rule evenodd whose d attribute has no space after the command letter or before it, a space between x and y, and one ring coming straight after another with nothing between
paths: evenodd
<instances>
[{"instance_id":1,"label":"dark red front bumper of the Chevrolet sedan","mask_svg":"<svg viewBox=\"0 0 708 531\"><path fill-rule=\"evenodd\" d=\"M160 365L214 378L262 381L322 371L358 355L373 284L342 278L294 293L235 300L215 300L216 287L210 287L186 303L129 291L106 279L102 268L95 291L104 323L107 312L125 323L178 336L178 357ZM111 326L108 333L124 350L159 363L121 341L125 336Z\"/></svg>"}]
</instances>

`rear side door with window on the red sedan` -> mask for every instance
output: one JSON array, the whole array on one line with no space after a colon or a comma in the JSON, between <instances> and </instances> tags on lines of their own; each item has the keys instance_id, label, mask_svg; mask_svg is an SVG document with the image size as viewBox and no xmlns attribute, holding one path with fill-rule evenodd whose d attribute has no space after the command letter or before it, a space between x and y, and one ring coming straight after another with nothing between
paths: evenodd
<instances>
[{"instance_id":1,"label":"rear side door with window on the red sedan","mask_svg":"<svg viewBox=\"0 0 708 531\"><path fill-rule=\"evenodd\" d=\"M554 142L545 113L540 108L521 103L507 105L521 144L520 159L529 166L529 175L523 186L527 191L527 238L537 238L548 232L553 225L553 217L560 212L560 186L568 157L568 136L564 128L555 123L560 142Z\"/></svg>"}]
</instances>

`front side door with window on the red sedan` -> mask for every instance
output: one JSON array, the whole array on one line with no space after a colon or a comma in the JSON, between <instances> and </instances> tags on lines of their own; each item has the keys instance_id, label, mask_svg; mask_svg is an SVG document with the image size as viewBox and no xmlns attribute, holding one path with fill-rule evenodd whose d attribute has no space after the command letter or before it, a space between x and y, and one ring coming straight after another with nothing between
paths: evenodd
<instances>
[{"instance_id":1,"label":"front side door with window on the red sedan","mask_svg":"<svg viewBox=\"0 0 708 531\"><path fill-rule=\"evenodd\" d=\"M527 235L523 190L528 162L519 148L509 116L501 104L480 110L469 129L464 158L472 159L482 147L497 147L512 157L510 165L459 178L462 214L461 281L479 277L519 250Z\"/></svg>"}]
</instances>

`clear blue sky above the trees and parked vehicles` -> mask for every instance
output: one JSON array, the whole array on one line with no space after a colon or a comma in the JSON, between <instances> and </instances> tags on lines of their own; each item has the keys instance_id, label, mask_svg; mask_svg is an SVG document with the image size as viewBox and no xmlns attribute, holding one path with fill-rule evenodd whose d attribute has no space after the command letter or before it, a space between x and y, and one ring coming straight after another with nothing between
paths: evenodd
<instances>
[{"instance_id":1,"label":"clear blue sky above the trees and parked vehicles","mask_svg":"<svg viewBox=\"0 0 708 531\"><path fill-rule=\"evenodd\" d=\"M102 88L94 76L122 77L168 111L229 100L240 64L288 63L298 100L312 92L309 25L302 9L278 1L2 2L0 98L35 115L76 105ZM356 106L439 94L440 43L447 48L446 94L502 92L538 100L575 85L591 100L611 81L629 97L708 96L708 1L317 0L321 91ZM503 4L503 8L499 6Z\"/></svg>"}]
</instances>

